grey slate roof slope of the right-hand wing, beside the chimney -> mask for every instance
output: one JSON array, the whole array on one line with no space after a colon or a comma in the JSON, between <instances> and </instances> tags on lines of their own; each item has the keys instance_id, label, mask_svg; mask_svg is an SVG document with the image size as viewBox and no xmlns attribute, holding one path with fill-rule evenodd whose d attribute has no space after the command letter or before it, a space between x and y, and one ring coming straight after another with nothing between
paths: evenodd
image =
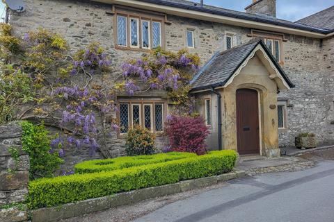
<instances>
[{"instance_id":1,"label":"grey slate roof slope of the right-hand wing, beside the chimney","mask_svg":"<svg viewBox=\"0 0 334 222\"><path fill-rule=\"evenodd\" d=\"M300 19L296 23L334 31L334 6Z\"/></svg>"}]
</instances>

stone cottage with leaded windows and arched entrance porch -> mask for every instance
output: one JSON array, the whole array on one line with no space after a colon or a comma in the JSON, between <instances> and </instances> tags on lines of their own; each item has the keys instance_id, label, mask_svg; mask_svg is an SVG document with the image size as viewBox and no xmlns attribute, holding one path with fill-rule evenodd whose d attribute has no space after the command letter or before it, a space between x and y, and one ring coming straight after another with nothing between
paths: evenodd
<instances>
[{"instance_id":1,"label":"stone cottage with leaded windows and arched entrance porch","mask_svg":"<svg viewBox=\"0 0 334 222\"><path fill-rule=\"evenodd\" d=\"M277 156L301 132L334 142L334 6L289 22L276 18L275 0L253 0L246 12L186 0L24 2L24 12L7 11L17 35L43 26L74 49L95 40L115 65L156 46L198 53L202 69L191 92L212 132L209 148ZM150 116L152 132L163 130L164 96L118 103L125 126L119 134L137 112ZM119 137L109 146L114 155L124 151Z\"/></svg>"}]
</instances>

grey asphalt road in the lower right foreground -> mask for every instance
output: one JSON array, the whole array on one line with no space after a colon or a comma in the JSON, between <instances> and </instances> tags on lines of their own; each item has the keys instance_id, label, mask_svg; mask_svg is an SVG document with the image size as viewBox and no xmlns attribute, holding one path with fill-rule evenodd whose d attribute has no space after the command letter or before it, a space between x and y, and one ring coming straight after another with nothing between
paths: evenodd
<instances>
[{"instance_id":1,"label":"grey asphalt road in the lower right foreground","mask_svg":"<svg viewBox=\"0 0 334 222\"><path fill-rule=\"evenodd\" d=\"M135 222L333 222L334 161L292 173L267 173L179 200Z\"/></svg>"}]
</instances>

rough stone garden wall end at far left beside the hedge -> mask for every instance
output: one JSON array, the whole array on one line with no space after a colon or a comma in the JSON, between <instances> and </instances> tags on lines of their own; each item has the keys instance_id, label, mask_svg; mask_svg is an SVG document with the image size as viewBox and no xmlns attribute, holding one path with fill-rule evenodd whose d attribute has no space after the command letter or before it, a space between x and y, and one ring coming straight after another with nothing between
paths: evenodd
<instances>
[{"instance_id":1,"label":"rough stone garden wall end at far left beside the hedge","mask_svg":"<svg viewBox=\"0 0 334 222\"><path fill-rule=\"evenodd\" d=\"M17 122L0 126L0 221L26 221L28 214L26 207L6 207L25 200L28 194L29 156L22 151L22 128ZM8 152L9 148L16 148L19 161L15 161Z\"/></svg>"}]
</instances>

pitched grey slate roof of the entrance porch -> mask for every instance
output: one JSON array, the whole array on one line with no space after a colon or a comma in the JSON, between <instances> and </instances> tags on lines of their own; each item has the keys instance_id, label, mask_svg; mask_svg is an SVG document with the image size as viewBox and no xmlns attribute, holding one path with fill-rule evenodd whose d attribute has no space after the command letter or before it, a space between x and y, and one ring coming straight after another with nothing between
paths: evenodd
<instances>
[{"instance_id":1,"label":"pitched grey slate roof of the entrance porch","mask_svg":"<svg viewBox=\"0 0 334 222\"><path fill-rule=\"evenodd\" d=\"M264 51L267 52L269 58L276 66L280 74L283 76L289 87L294 87L294 84L289 80L283 69L278 65L273 58L264 42L258 38L250 40L245 44L234 46L231 49L218 52L198 71L191 80L192 91L200 89L209 89L212 87L223 86L234 74L239 66L248 58L255 47L261 44Z\"/></svg>"}]
</instances>

